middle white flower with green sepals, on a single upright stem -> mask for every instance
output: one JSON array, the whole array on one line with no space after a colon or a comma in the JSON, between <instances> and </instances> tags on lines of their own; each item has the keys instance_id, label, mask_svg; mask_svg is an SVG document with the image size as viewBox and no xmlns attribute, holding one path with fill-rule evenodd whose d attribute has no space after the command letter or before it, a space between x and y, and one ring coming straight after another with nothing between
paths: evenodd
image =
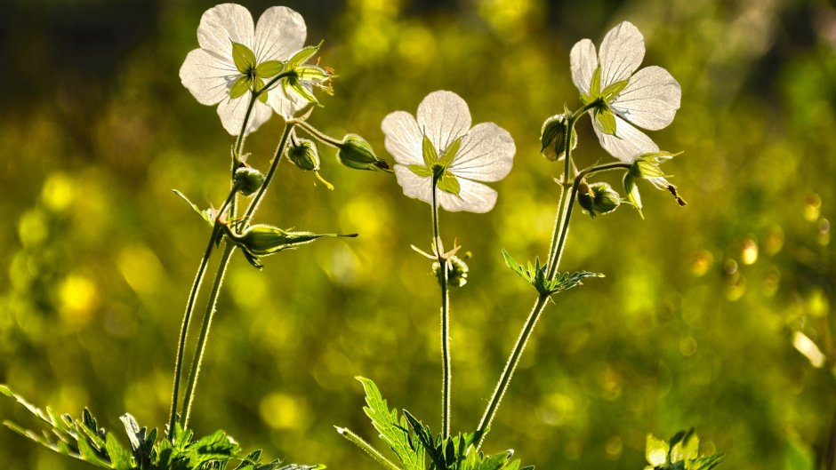
<instances>
[{"instance_id":1,"label":"middle white flower with green sepals, on a single upright stem","mask_svg":"<svg viewBox=\"0 0 836 470\"><path fill-rule=\"evenodd\" d=\"M416 116L395 111L381 124L404 194L431 204L438 171L437 200L446 211L493 209L496 191L479 181L499 181L510 171L516 152L510 133L494 123L470 128L467 103L454 92L431 92Z\"/></svg>"}]
</instances>

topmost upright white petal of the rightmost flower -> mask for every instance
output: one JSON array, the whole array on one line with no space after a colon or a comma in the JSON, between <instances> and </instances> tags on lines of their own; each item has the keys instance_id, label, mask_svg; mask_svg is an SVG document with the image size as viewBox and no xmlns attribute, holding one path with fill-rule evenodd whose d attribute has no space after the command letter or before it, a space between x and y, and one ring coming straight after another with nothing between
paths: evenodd
<instances>
[{"instance_id":1,"label":"topmost upright white petal of the rightmost flower","mask_svg":"<svg viewBox=\"0 0 836 470\"><path fill-rule=\"evenodd\" d=\"M624 21L601 42L601 90L629 78L645 57L645 38L639 28Z\"/></svg>"}]
</instances>

